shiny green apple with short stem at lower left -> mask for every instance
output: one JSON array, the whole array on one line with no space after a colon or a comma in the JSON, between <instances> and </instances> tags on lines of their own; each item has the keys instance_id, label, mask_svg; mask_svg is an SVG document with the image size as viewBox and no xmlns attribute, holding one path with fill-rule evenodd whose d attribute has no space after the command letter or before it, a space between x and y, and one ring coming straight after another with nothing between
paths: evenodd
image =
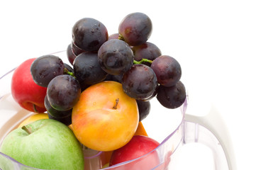
<instances>
[{"instance_id":1,"label":"shiny green apple with short stem at lower left","mask_svg":"<svg viewBox=\"0 0 256 170\"><path fill-rule=\"evenodd\" d=\"M80 143L72 130L57 120L36 120L13 130L0 152L38 169L84 169Z\"/></svg>"}]
</instances>

